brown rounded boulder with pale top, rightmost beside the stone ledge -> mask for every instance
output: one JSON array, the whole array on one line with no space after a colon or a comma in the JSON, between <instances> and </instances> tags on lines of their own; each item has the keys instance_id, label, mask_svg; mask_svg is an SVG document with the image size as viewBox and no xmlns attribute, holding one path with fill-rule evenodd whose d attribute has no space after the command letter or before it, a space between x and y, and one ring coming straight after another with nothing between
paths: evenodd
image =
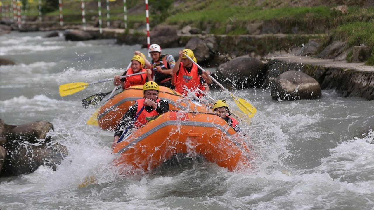
<instances>
[{"instance_id":1,"label":"brown rounded boulder with pale top, rightmost beside the stone ledge","mask_svg":"<svg viewBox=\"0 0 374 210\"><path fill-rule=\"evenodd\" d=\"M321 98L318 81L301 71L286 71L272 80L272 98L277 101Z\"/></svg>"}]
</instances>

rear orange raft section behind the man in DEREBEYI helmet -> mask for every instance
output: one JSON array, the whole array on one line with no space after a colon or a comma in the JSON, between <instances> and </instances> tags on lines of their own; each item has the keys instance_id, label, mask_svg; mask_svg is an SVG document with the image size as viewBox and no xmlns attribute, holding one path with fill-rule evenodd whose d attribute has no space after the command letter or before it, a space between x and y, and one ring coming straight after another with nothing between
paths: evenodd
<instances>
[{"instance_id":1,"label":"rear orange raft section behind the man in DEREBEYI helmet","mask_svg":"<svg viewBox=\"0 0 374 210\"><path fill-rule=\"evenodd\" d=\"M135 101L143 98L143 86L131 86L113 96L99 109L97 121L103 130L114 130L127 109ZM159 98L169 102L170 109L207 112L208 108L200 103L184 99L180 93L168 87L160 86Z\"/></svg>"}]
</instances>

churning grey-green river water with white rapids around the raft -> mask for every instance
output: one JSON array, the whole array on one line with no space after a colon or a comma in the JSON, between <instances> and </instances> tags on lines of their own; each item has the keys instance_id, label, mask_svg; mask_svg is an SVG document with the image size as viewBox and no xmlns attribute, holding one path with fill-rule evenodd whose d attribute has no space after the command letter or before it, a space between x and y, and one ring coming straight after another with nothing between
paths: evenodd
<instances>
[{"instance_id":1,"label":"churning grey-green river water with white rapids around the raft","mask_svg":"<svg viewBox=\"0 0 374 210\"><path fill-rule=\"evenodd\" d=\"M113 132L89 126L97 107L81 100L113 88L111 82L87 87L64 98L58 86L112 78L125 68L140 45L114 40L70 42L46 33L0 37L0 55L19 64L1 66L0 118L7 124L46 120L49 134L69 154L56 171L1 178L2 210L101 209L374 209L374 144L354 138L356 129L373 124L374 102L341 98L323 90L314 101L277 102L270 90L233 92L258 112L241 124L254 145L254 169L229 172L212 163L193 161L162 173L122 177L111 166ZM178 54L178 49L163 53ZM214 90L214 98L228 93ZM85 177L96 184L79 188Z\"/></svg>"}]
</instances>

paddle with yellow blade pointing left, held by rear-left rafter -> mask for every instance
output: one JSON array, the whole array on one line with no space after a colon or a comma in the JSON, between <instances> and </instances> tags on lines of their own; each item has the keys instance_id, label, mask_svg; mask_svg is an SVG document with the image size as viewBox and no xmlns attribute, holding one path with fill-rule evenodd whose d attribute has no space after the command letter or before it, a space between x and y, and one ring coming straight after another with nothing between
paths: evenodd
<instances>
[{"instance_id":1,"label":"paddle with yellow blade pointing left, held by rear-left rafter","mask_svg":"<svg viewBox=\"0 0 374 210\"><path fill-rule=\"evenodd\" d=\"M121 76L120 78L125 78L125 77L134 76L137 74L145 74L145 73L146 72L138 72L134 74L124 75L124 76ZM86 87L88 87L91 84L97 84L97 83L102 83L102 82L111 81L111 80L114 80L114 78L99 80L99 81L92 82L92 83L85 83L85 82L67 83L67 84L60 85L58 90L60 92L60 96L68 96L68 95L77 93L81 90L84 90Z\"/></svg>"}]
</instances>

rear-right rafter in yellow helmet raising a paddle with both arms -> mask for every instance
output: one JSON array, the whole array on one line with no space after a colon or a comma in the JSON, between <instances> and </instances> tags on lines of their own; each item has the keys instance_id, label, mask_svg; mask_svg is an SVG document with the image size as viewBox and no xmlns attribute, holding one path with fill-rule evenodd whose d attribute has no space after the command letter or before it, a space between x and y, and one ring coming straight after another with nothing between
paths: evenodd
<instances>
[{"instance_id":1,"label":"rear-right rafter in yellow helmet raising a paddle with both arms","mask_svg":"<svg viewBox=\"0 0 374 210\"><path fill-rule=\"evenodd\" d=\"M173 67L175 90L182 95L187 95L188 90L197 92L196 89L207 93L209 91L208 84L212 83L211 78L208 76L210 72L200 70L184 54L187 54L188 57L196 62L192 50L184 49L179 52L179 58ZM197 92L196 95L200 96L200 93Z\"/></svg>"}]
</instances>

